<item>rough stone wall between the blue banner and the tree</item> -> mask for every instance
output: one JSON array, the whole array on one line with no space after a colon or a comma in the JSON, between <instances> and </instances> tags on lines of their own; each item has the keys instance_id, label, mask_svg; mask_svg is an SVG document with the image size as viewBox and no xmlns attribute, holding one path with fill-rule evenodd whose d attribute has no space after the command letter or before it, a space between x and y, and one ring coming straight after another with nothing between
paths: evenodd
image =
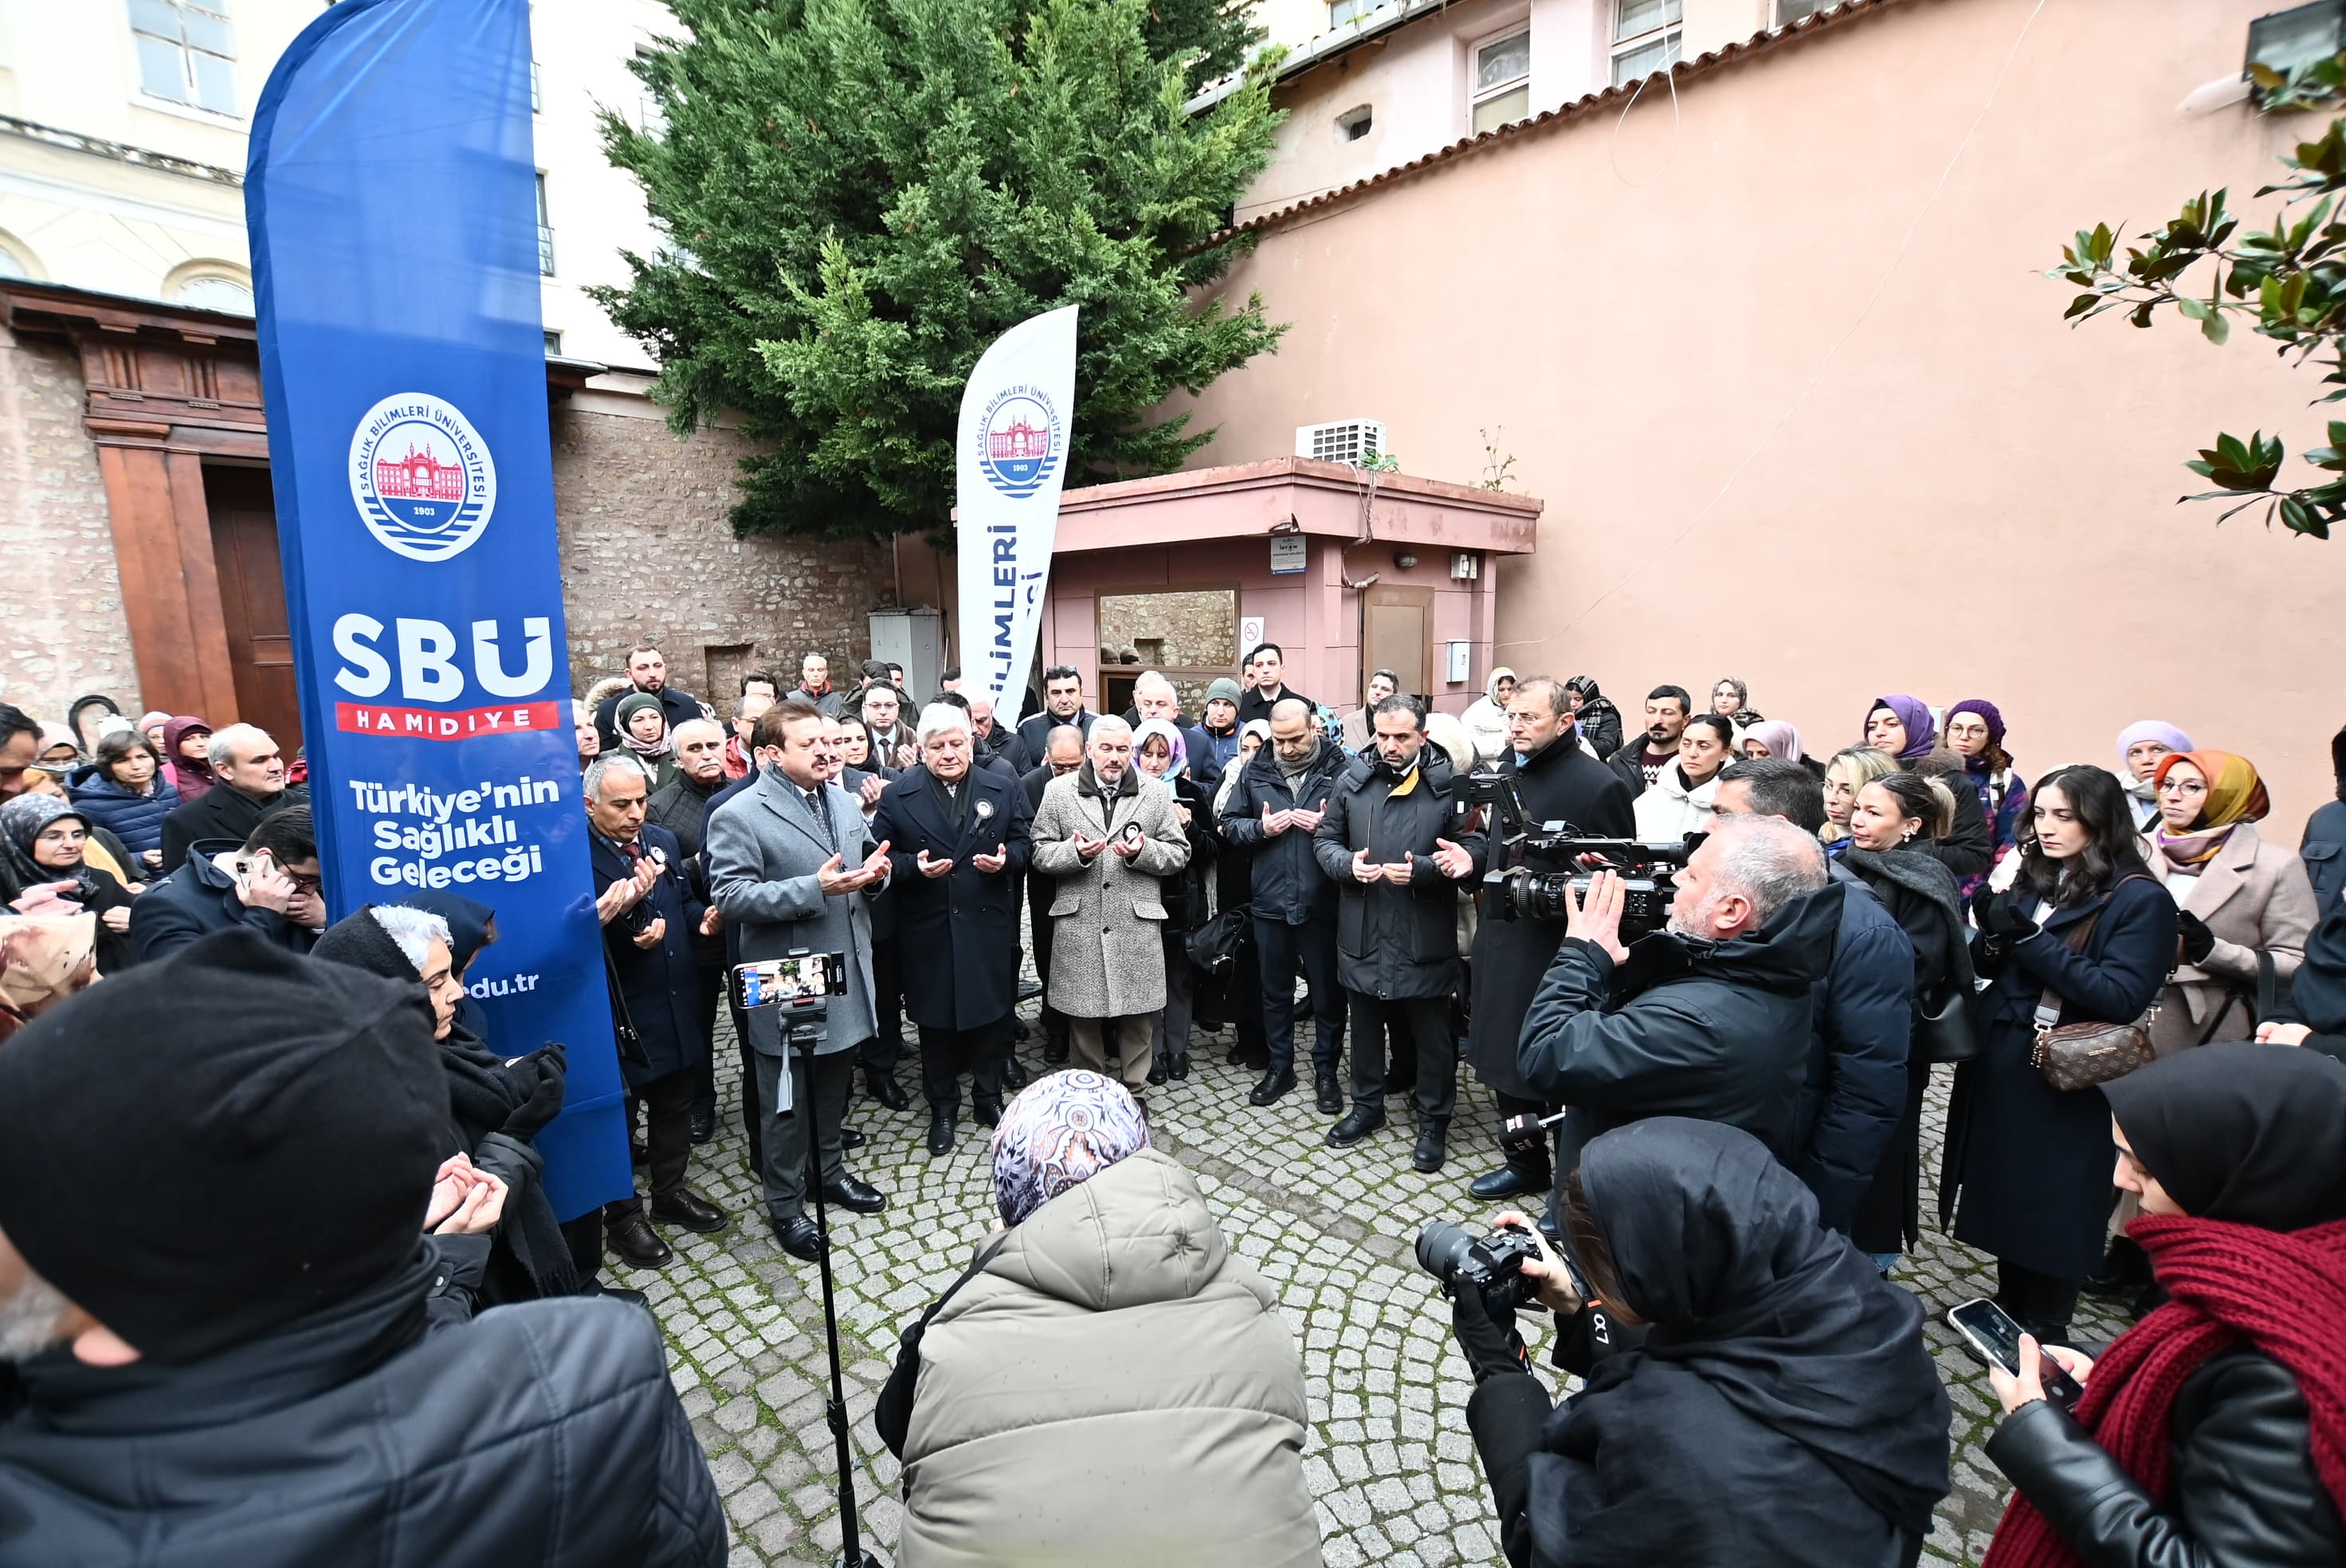
<instances>
[{"instance_id":1,"label":"rough stone wall between the blue banner and the tree","mask_svg":"<svg viewBox=\"0 0 2346 1568\"><path fill-rule=\"evenodd\" d=\"M821 650L845 685L870 655L866 617L894 587L887 547L737 540L725 514L744 451L727 432L680 441L659 418L556 406L554 514L577 690L622 671L638 638L659 643L676 685L720 707L741 669L791 683L800 657Z\"/></svg>"}]
</instances>

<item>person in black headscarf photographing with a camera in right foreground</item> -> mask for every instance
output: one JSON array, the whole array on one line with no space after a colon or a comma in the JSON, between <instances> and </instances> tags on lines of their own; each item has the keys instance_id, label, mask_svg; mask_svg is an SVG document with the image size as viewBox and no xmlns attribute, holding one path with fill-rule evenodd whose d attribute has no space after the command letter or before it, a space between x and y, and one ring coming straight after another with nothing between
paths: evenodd
<instances>
[{"instance_id":1,"label":"person in black headscarf photographing with a camera in right foreground","mask_svg":"<svg viewBox=\"0 0 2346 1568\"><path fill-rule=\"evenodd\" d=\"M1921 1305L1818 1223L1767 1145L1687 1117L1619 1127L1581 1150L1565 1223L1595 1305L1546 1249L1523 1272L1581 1392L1551 1411L1480 1291L1452 1305L1508 1563L1917 1561L1950 1418Z\"/></svg>"}]
</instances>

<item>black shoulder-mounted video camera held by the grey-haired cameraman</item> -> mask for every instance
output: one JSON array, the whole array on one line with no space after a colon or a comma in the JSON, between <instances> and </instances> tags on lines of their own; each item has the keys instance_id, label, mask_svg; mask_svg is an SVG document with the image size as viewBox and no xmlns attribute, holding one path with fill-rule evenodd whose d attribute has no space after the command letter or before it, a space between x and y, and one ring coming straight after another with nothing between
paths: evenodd
<instances>
[{"instance_id":1,"label":"black shoulder-mounted video camera held by the grey-haired cameraman","mask_svg":"<svg viewBox=\"0 0 2346 1568\"><path fill-rule=\"evenodd\" d=\"M1492 869L1483 873L1485 918L1565 920L1572 915L1572 906L1565 901L1567 887L1574 897L1586 897L1598 871L1616 871L1626 894L1621 941L1635 941L1663 927L1670 918L1670 899L1677 894L1677 871L1701 840L1699 833L1670 843L1588 838L1569 822L1532 824L1523 815L1516 775L1497 770L1459 779L1452 800L1459 817L1478 805L1490 812ZM1591 857L1598 864L1588 864Z\"/></svg>"}]
</instances>

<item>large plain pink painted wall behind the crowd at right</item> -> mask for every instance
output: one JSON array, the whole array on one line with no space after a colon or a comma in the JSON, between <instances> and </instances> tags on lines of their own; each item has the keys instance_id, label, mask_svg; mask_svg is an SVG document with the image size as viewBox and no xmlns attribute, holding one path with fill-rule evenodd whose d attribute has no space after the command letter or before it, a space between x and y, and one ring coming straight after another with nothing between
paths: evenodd
<instances>
[{"instance_id":1,"label":"large plain pink painted wall behind the crowd at right","mask_svg":"<svg viewBox=\"0 0 2346 1568\"><path fill-rule=\"evenodd\" d=\"M1736 674L1818 753L1884 690L1985 695L2029 772L2161 716L2250 756L2294 843L2346 718L2346 540L2175 498L2217 430L2316 444L2318 376L2247 333L2074 331L2039 277L2208 185L2269 218L2250 192L2323 120L2175 108L2266 9L1910 0L1680 80L1675 124L1649 92L1619 134L1499 141L1267 232L1227 286L1295 329L1173 406L1220 425L1199 465L1342 413L1473 474L1504 427L1548 500L1497 566L1516 669L1630 709Z\"/></svg>"}]
</instances>

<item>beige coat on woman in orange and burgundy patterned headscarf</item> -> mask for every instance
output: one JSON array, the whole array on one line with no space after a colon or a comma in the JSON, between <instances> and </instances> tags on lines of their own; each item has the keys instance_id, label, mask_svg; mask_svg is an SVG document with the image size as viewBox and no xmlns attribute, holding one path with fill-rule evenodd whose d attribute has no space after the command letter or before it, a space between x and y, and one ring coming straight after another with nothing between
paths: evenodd
<instances>
[{"instance_id":1,"label":"beige coat on woman in orange and burgundy patterned headscarf","mask_svg":"<svg viewBox=\"0 0 2346 1568\"><path fill-rule=\"evenodd\" d=\"M2215 932L2203 965L2177 965L2158 993L2151 1049L2172 1056L2203 1040L2247 1040L2257 1033L2257 953L2273 955L2287 981L2306 955L2313 930L2313 883L2294 850L2259 838L2238 822L2231 838L2198 876L2179 876L2158 852L2158 833L2142 836L2142 859L2168 885L2175 904Z\"/></svg>"}]
</instances>

